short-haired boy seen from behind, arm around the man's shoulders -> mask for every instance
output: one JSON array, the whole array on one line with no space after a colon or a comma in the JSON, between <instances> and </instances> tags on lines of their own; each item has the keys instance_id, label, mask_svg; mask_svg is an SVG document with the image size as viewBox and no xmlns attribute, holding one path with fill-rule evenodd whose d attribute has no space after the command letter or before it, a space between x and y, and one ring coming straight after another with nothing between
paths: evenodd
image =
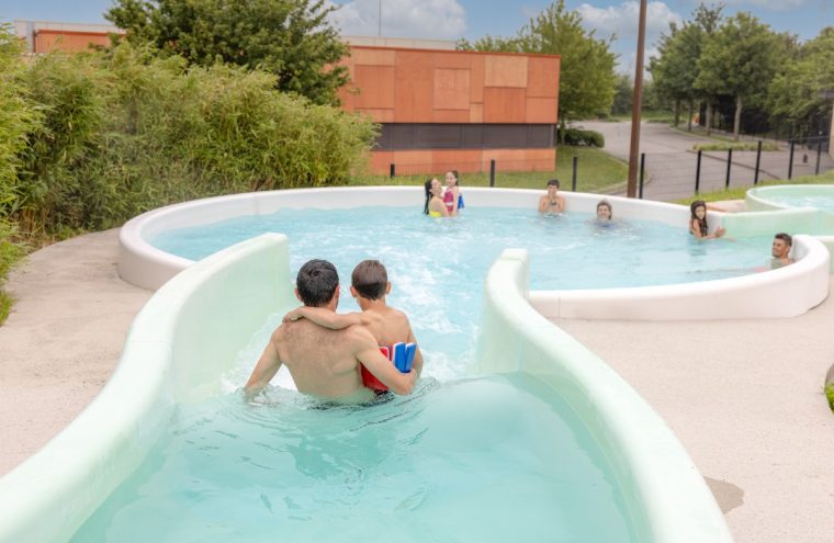
<instances>
[{"instance_id":1,"label":"short-haired boy seen from behind, arm around the man's shoulders","mask_svg":"<svg viewBox=\"0 0 834 543\"><path fill-rule=\"evenodd\" d=\"M359 262L353 269L350 282L350 294L357 299L362 313L338 315L319 307L301 306L284 315L283 320L305 318L335 330L359 325L370 331L380 346L417 343L406 314L385 302L385 296L391 292L391 282L385 267L379 260ZM417 376L422 371L422 354L419 348L414 354L412 371L416 372Z\"/></svg>"}]
</instances>

